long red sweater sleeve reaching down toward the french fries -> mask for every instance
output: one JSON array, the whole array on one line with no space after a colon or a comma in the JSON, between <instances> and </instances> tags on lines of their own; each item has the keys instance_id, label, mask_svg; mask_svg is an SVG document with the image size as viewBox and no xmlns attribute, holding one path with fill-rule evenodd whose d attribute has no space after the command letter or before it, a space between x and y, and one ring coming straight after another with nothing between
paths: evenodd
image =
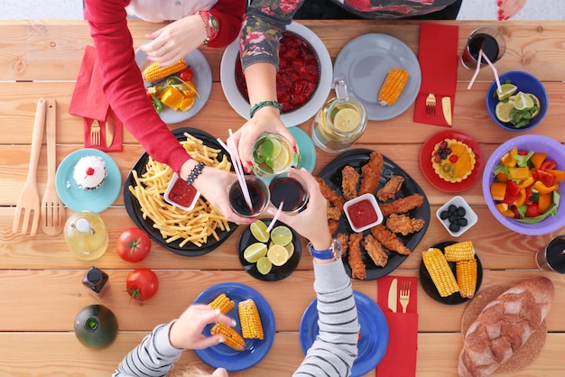
<instances>
[{"instance_id":1,"label":"long red sweater sleeve reaching down toward the french fries","mask_svg":"<svg viewBox=\"0 0 565 377\"><path fill-rule=\"evenodd\" d=\"M129 0L85 1L85 18L97 52L104 93L117 117L145 151L178 172L190 155L145 95L144 80L134 60L134 41L127 28L127 4Z\"/></svg>"}]
</instances>

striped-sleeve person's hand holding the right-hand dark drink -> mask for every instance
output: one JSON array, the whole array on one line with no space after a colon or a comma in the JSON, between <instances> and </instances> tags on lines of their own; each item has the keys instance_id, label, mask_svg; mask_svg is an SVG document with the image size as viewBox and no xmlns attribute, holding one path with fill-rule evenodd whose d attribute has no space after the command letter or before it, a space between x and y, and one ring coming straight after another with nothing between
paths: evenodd
<instances>
[{"instance_id":1,"label":"striped-sleeve person's hand holding the right-hand dark drink","mask_svg":"<svg viewBox=\"0 0 565 377\"><path fill-rule=\"evenodd\" d=\"M326 198L321 195L320 184L307 170L298 169L293 171L300 174L306 181L306 189L309 193L308 205L306 209L297 215L287 215L282 212L279 220L286 225L292 226L295 231L310 240L314 249L328 249L331 243L328 217L326 216L328 203ZM268 211L271 215L274 215L276 212L274 208L269 208Z\"/></svg>"}]
</instances>

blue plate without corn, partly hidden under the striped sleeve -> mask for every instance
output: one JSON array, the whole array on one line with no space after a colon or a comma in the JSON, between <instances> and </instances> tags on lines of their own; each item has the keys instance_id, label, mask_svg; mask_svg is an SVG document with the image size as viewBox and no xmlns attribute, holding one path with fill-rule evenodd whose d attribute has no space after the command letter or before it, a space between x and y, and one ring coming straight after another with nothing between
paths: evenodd
<instances>
[{"instance_id":1,"label":"blue plate without corn, partly hidden under the striped sleeve","mask_svg":"<svg viewBox=\"0 0 565 377\"><path fill-rule=\"evenodd\" d=\"M359 354L351 369L351 377L362 376L378 365L388 347L388 324L383 311L365 294L353 291L357 304L357 317L361 326L361 339L357 344ZM316 340L318 326L317 300L314 299L301 319L300 337L302 352L306 354Z\"/></svg>"}]
</instances>

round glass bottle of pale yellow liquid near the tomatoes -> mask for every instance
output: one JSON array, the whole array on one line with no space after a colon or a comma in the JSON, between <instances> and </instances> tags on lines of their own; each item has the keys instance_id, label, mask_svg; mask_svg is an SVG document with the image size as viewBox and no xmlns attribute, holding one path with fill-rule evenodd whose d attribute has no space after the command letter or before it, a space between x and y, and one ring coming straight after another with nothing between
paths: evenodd
<instances>
[{"instance_id":1,"label":"round glass bottle of pale yellow liquid near the tomatoes","mask_svg":"<svg viewBox=\"0 0 565 377\"><path fill-rule=\"evenodd\" d=\"M93 261L106 253L106 224L93 212L80 211L70 216L64 235L70 251L83 261Z\"/></svg>"}]
</instances>

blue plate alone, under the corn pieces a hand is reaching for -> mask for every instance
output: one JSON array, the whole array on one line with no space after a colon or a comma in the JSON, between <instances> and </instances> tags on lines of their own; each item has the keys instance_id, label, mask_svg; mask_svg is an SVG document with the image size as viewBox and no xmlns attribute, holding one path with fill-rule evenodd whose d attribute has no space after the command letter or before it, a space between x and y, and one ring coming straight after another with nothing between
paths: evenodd
<instances>
[{"instance_id":1,"label":"blue plate alone, under the corn pieces a hand is reaching for","mask_svg":"<svg viewBox=\"0 0 565 377\"><path fill-rule=\"evenodd\" d=\"M236 307L227 313L227 317L236 319L237 325L234 328L239 334L241 334L241 326L239 326L240 321L237 317L237 304L245 299L255 301L259 310L259 317L261 317L263 323L264 339L245 339L245 350L243 351L236 351L227 345L219 344L203 350L194 350L194 353L199 356L200 360L213 368L226 368L228 372L243 371L263 360L273 345L275 333L273 309L263 296L253 288L232 282L216 284L208 290L204 290L194 300L194 303L208 304L221 293L226 293L229 299L236 302ZM211 327L212 325L208 325L204 328L204 335L210 335Z\"/></svg>"}]
</instances>

